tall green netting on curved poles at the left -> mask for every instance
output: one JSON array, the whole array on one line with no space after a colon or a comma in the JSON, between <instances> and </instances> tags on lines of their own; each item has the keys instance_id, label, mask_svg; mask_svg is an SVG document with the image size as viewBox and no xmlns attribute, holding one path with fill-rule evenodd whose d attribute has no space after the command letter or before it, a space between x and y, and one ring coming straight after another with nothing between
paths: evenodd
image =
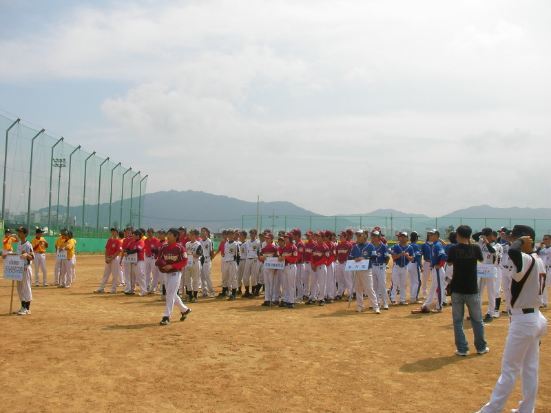
<instances>
[{"instance_id":1,"label":"tall green netting on curved poles at the left","mask_svg":"<svg viewBox=\"0 0 551 413\"><path fill-rule=\"evenodd\" d=\"M111 226L141 226L147 175L19 119L0 115L0 130L5 227L104 238Z\"/></svg>"}]
</instances>

